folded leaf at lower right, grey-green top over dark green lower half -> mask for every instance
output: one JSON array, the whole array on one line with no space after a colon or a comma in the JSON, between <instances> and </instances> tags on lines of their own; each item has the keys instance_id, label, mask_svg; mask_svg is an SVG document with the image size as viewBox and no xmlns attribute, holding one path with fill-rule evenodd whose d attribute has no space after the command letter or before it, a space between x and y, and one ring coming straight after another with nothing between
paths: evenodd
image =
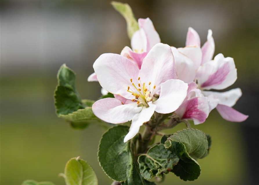
<instances>
[{"instance_id":1,"label":"folded leaf at lower right, grey-green top over dark green lower half","mask_svg":"<svg viewBox=\"0 0 259 185\"><path fill-rule=\"evenodd\" d=\"M195 180L200 176L200 165L195 159L204 158L208 154L206 135L197 129L183 129L168 138L164 144L166 149L179 158L172 172L182 180Z\"/></svg>"}]
</instances>

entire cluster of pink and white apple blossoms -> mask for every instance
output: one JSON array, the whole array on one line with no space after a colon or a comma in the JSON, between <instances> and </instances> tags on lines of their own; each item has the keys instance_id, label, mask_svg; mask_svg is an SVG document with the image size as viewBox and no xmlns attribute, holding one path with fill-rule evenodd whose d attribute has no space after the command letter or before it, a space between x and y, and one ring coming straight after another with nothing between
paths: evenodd
<instances>
[{"instance_id":1,"label":"entire cluster of pink and white apple blossoms","mask_svg":"<svg viewBox=\"0 0 259 185\"><path fill-rule=\"evenodd\" d=\"M233 58L221 53L213 59L212 31L200 46L198 33L189 28L185 47L160 43L149 18L138 19L139 30L131 38L131 48L119 54L105 53L93 64L95 73L88 81L98 81L104 91L114 95L93 104L93 113L108 123L131 122L124 142L133 138L154 112L174 112L180 119L203 123L211 110L234 122L247 119L232 106L242 95L240 88L226 92L237 79Z\"/></svg>"}]
</instances>

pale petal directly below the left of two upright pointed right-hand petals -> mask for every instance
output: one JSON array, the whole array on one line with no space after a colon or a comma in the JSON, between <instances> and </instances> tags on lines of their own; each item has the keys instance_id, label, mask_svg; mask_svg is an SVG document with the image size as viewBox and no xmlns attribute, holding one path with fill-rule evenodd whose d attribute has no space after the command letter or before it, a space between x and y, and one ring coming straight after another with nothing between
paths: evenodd
<instances>
[{"instance_id":1,"label":"pale petal directly below the left of two upright pointed right-hand petals","mask_svg":"<svg viewBox=\"0 0 259 185\"><path fill-rule=\"evenodd\" d=\"M197 70L202 63L202 50L197 46L178 48L178 51L193 61L194 69Z\"/></svg>"}]
</instances>

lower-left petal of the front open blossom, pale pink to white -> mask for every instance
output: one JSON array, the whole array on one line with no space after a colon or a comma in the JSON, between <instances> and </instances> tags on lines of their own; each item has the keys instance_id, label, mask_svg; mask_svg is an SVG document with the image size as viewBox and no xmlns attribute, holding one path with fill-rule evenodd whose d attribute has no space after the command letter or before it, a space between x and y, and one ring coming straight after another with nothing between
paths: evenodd
<instances>
[{"instance_id":1,"label":"lower-left petal of the front open blossom, pale pink to white","mask_svg":"<svg viewBox=\"0 0 259 185\"><path fill-rule=\"evenodd\" d=\"M116 98L104 98L93 104L93 113L99 119L108 123L125 123L142 110L137 103L122 104Z\"/></svg>"}]
</instances>

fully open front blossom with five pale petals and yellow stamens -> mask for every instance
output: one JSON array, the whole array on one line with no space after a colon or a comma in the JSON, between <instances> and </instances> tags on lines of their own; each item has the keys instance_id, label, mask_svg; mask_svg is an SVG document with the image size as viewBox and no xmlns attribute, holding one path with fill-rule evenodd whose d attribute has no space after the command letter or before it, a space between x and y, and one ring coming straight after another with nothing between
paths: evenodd
<instances>
[{"instance_id":1,"label":"fully open front blossom with five pale petals and yellow stamens","mask_svg":"<svg viewBox=\"0 0 259 185\"><path fill-rule=\"evenodd\" d=\"M132 120L124 142L133 138L154 112L167 114L178 109L187 95L188 84L177 78L170 46L156 44L139 69L129 59L102 54L93 68L100 85L115 95L93 104L94 114L109 123Z\"/></svg>"}]
</instances>

